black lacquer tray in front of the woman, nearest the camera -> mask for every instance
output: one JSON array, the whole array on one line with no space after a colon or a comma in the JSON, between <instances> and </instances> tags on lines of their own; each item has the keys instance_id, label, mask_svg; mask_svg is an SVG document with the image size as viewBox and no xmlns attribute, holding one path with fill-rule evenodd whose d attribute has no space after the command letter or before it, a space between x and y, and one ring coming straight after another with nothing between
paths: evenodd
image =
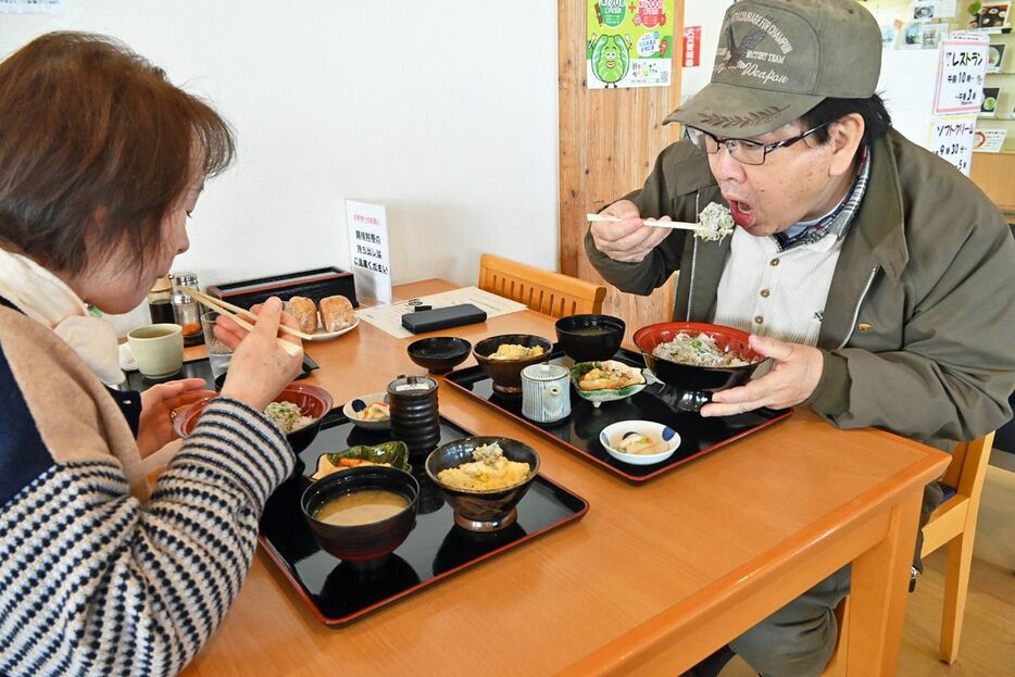
<instances>
[{"instance_id":1,"label":"black lacquer tray in front of the woman, nearest the camera","mask_svg":"<svg viewBox=\"0 0 1015 677\"><path fill-rule=\"evenodd\" d=\"M441 418L440 443L471 435ZM412 532L387 561L374 569L356 568L317 547L300 511L300 496L310 485L317 457L355 444L391 439L390 430L354 427L335 409L325 417L314 442L300 454L300 474L268 499L261 517L261 544L322 622L341 626L435 584L550 529L578 519L588 503L541 475L518 504L518 518L499 531L477 534L454 524L451 507L423 469L424 459L411 459L419 480L419 511Z\"/></svg>"}]
</instances>

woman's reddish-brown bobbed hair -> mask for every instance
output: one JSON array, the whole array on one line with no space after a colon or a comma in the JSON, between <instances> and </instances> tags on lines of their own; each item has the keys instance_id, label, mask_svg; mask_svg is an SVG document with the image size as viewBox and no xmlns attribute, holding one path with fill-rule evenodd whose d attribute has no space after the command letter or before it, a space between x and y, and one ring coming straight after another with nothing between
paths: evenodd
<instances>
[{"instance_id":1,"label":"woman's reddish-brown bobbed hair","mask_svg":"<svg viewBox=\"0 0 1015 677\"><path fill-rule=\"evenodd\" d=\"M87 241L138 269L195 178L235 155L228 124L104 36L50 33L0 63L0 245L71 275Z\"/></svg>"}]
</instances>

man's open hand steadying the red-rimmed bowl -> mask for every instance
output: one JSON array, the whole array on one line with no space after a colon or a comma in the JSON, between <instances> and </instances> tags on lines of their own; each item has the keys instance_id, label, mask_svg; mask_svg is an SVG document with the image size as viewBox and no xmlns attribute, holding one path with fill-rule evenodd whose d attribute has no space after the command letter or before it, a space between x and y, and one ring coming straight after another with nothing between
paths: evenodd
<instances>
[{"instance_id":1,"label":"man's open hand steadying the red-rimmed bowl","mask_svg":"<svg viewBox=\"0 0 1015 677\"><path fill-rule=\"evenodd\" d=\"M794 406L810 398L822 380L825 360L817 348L754 335L750 344L756 353L773 359L772 368L745 386L716 392L712 403L701 409L702 416L731 416L760 406Z\"/></svg>"}]
</instances>

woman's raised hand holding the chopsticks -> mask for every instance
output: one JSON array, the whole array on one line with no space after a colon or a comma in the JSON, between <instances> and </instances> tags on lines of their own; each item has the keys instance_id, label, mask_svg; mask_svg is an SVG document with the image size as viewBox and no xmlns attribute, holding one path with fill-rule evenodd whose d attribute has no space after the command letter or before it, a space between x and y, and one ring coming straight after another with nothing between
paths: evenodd
<instances>
[{"instance_id":1,"label":"woman's raised hand holding the chopsticks","mask_svg":"<svg viewBox=\"0 0 1015 677\"><path fill-rule=\"evenodd\" d=\"M253 331L247 331L230 317L220 315L215 324L215 336L233 349L233 360L226 372L222 396L247 402L258 411L264 411L281 389L299 375L303 364L303 351L290 355L276 342L279 336L302 348L295 336L278 333L279 325L299 329L292 315L281 311L281 301L272 297L263 305L253 309L258 322Z\"/></svg>"}]
</instances>

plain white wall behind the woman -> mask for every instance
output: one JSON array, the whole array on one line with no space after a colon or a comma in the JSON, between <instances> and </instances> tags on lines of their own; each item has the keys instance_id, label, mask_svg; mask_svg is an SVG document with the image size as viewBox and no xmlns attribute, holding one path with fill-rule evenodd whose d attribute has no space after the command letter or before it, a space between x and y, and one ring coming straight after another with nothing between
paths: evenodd
<instances>
[{"instance_id":1,"label":"plain white wall behind the woman","mask_svg":"<svg viewBox=\"0 0 1015 677\"><path fill-rule=\"evenodd\" d=\"M349 264L344 200L388 208L396 283L474 284L479 253L557 268L556 5L65 0L0 14L0 57L115 36L234 124L175 269L202 284Z\"/></svg>"}]
</instances>

